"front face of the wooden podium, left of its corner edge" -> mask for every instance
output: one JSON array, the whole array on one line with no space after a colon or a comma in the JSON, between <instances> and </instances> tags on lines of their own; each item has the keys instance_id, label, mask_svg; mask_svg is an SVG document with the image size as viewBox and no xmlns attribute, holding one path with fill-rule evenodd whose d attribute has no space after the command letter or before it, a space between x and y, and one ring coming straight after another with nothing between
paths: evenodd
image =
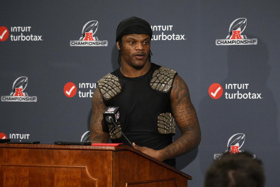
<instances>
[{"instance_id":1,"label":"front face of the wooden podium, left of its corner edge","mask_svg":"<svg viewBox=\"0 0 280 187\"><path fill-rule=\"evenodd\" d=\"M112 186L112 148L60 147L0 145L0 186Z\"/></svg>"}]
</instances>

